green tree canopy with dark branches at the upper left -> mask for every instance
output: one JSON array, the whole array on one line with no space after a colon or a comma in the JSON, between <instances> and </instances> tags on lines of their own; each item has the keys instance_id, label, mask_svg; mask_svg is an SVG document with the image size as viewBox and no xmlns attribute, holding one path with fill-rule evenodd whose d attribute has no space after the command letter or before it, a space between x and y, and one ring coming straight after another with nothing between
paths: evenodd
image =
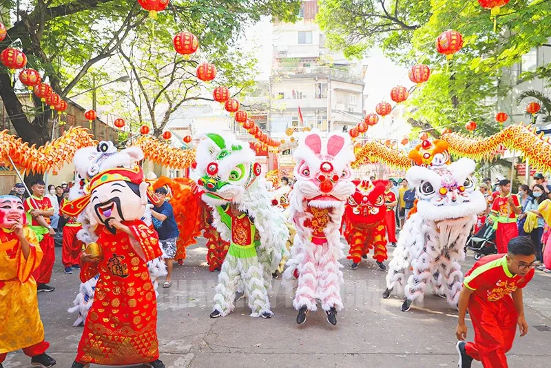
<instances>
[{"instance_id":1,"label":"green tree canopy with dark branches at the upper left","mask_svg":"<svg viewBox=\"0 0 551 368\"><path fill-rule=\"evenodd\" d=\"M16 19L16 1L2 2L0 20L12 26L8 28L9 37L0 43L0 49L10 45L20 47L28 57L28 66L43 72L43 79L62 98L70 96L72 91L90 88L89 73L94 74L98 85L120 76L114 76L112 70L103 65L121 63L120 51L130 54L132 42L152 32L152 27L156 28L156 38L152 38L149 45L155 52L148 54L147 44L139 45L141 50L132 54L138 58L132 59L134 63L141 64L144 59L151 58L159 61L159 68L164 65L170 69L178 60L171 50L169 32L189 30L198 36L205 57L220 57L212 62L218 64L220 61L222 72L250 76L240 70L250 68L250 64L231 60L231 57L242 56L234 51L238 35L246 25L262 16L293 21L300 5L298 0L172 0L153 25L147 12L133 0L31 0L23 3L19 20L12 22L10 18ZM160 48L164 54L156 52L154 40L163 42ZM191 63L178 63L176 68L183 65ZM189 68L185 69L189 74ZM152 77L149 76L155 80ZM7 70L1 69L0 98L17 134L23 141L42 145L50 137L52 123L47 114L41 112L38 99L34 99L37 106L34 114L25 112L16 92ZM154 91L152 95L156 95ZM162 95L164 100L160 103L167 103L166 95Z\"/></svg>"}]
</instances>

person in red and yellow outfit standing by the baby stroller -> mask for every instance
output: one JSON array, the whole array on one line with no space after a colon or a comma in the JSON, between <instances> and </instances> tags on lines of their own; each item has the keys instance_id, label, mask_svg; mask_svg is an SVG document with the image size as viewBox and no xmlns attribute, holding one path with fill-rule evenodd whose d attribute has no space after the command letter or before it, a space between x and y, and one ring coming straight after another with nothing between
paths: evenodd
<instances>
[{"instance_id":1,"label":"person in red and yellow outfit standing by the baby stroller","mask_svg":"<svg viewBox=\"0 0 551 368\"><path fill-rule=\"evenodd\" d=\"M517 215L522 213L519 197L511 194L511 182L507 179L499 181L501 194L492 203L490 218L497 223L495 244L497 253L507 253L507 244L515 236L519 236Z\"/></svg>"}]
</instances>

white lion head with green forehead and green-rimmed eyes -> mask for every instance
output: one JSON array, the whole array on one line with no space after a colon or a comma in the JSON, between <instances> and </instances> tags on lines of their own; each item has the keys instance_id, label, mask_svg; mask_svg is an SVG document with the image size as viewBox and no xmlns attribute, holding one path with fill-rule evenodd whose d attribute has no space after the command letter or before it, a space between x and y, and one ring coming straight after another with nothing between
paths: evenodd
<instances>
[{"instance_id":1,"label":"white lion head with green forehead and green-rimmed eyes","mask_svg":"<svg viewBox=\"0 0 551 368\"><path fill-rule=\"evenodd\" d=\"M194 178L202 200L211 206L240 203L261 171L253 150L233 136L206 134L197 146L196 157Z\"/></svg>"}]
</instances>

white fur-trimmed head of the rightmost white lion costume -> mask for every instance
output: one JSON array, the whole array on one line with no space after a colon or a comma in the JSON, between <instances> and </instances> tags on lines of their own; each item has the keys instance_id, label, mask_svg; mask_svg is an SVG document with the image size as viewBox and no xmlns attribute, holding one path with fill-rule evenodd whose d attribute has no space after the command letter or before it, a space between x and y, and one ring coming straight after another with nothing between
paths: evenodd
<instances>
[{"instance_id":1,"label":"white fur-trimmed head of the rightmost white lion costume","mask_svg":"<svg viewBox=\"0 0 551 368\"><path fill-rule=\"evenodd\" d=\"M479 214L486 207L481 192L475 190L475 161L459 159L450 165L414 166L406 173L416 188L417 213L426 220L441 221Z\"/></svg>"}]
</instances>

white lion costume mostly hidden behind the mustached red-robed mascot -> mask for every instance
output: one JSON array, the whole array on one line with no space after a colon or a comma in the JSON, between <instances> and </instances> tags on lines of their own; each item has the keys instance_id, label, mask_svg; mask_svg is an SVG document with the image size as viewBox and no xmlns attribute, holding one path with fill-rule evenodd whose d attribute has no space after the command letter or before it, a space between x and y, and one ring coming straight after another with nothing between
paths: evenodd
<instances>
[{"instance_id":1,"label":"white lion costume mostly hidden behind the mustached red-robed mascot","mask_svg":"<svg viewBox=\"0 0 551 368\"><path fill-rule=\"evenodd\" d=\"M138 161L143 159L143 152L138 147L129 147L125 150L117 152L116 147L110 141L101 141L95 147L85 147L76 151L74 155L75 165L75 179L69 192L70 201L74 201L78 198L82 198L86 193L86 186L92 178L94 178L99 172L105 170L114 169L116 167L132 168L136 166ZM145 207L145 212L139 214L142 221L147 225L152 224L150 205ZM63 208L61 209L63 212ZM72 212L70 210L69 212ZM77 221L82 224L82 229L77 233L77 238L85 245L95 243L98 239L98 235L95 232L95 228L98 225L97 221L94 221L90 216L90 211L83 209L76 217ZM149 269L149 277L152 280L154 289L157 290L157 279L167 274L165 263L163 258L158 257L150 260L147 263ZM98 275L85 280L81 283L79 294L73 301L73 307L69 309L71 313L78 312L79 317L74 322L74 326L81 325L87 313L94 302L94 292L96 289L96 283L98 281Z\"/></svg>"}]
</instances>

